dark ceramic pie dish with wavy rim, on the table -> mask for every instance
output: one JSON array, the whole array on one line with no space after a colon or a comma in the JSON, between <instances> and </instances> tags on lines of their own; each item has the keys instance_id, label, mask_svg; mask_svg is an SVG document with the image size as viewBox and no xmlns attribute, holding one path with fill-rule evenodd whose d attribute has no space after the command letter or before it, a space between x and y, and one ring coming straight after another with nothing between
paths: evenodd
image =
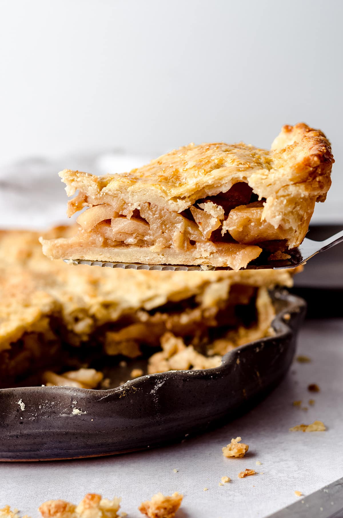
<instances>
[{"instance_id":1,"label":"dark ceramic pie dish with wavy rim, on the table","mask_svg":"<svg viewBox=\"0 0 343 518\"><path fill-rule=\"evenodd\" d=\"M270 392L292 362L306 304L285 291L274 301L275 336L227 353L217 368L143 376L109 390L0 390L0 460L124 453L233 419Z\"/></svg>"}]
</instances>

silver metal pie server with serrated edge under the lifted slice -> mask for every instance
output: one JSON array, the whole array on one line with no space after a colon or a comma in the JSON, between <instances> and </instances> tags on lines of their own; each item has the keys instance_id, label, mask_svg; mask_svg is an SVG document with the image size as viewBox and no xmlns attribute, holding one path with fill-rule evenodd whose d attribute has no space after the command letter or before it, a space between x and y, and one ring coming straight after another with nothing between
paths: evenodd
<instances>
[{"instance_id":1,"label":"silver metal pie server with serrated edge under the lifted slice","mask_svg":"<svg viewBox=\"0 0 343 518\"><path fill-rule=\"evenodd\" d=\"M319 252L324 252L335 244L338 244L343 241L343 230L337 232L333 236L324 239L324 241L313 241L312 239L308 239L307 237L304 239L302 244L294 249L289 250L288 254L291 254L291 257L287 260L283 261L272 261L269 264L265 265L249 265L247 269L256 270L262 268L273 268L274 270L280 270L284 268L295 268L296 266L300 266L305 264L311 257L318 254ZM215 270L231 270L231 268L223 268L216 266L187 266L187 265L171 265L171 264L141 264L141 263L110 263L104 261L85 261L83 259L65 259L65 263L69 264L87 264L89 266L108 266L109 268L123 268L123 269L133 269L133 270L167 270L167 271L215 271Z\"/></svg>"}]
</instances>

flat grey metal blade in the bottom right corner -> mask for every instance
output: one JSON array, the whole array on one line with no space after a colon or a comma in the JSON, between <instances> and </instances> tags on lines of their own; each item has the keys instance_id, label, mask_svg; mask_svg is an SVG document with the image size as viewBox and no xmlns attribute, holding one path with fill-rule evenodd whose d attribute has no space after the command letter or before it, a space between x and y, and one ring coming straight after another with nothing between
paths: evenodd
<instances>
[{"instance_id":1,"label":"flat grey metal blade in the bottom right corner","mask_svg":"<svg viewBox=\"0 0 343 518\"><path fill-rule=\"evenodd\" d=\"M267 518L339 518L343 516L343 478L322 487Z\"/></svg>"}]
</instances>

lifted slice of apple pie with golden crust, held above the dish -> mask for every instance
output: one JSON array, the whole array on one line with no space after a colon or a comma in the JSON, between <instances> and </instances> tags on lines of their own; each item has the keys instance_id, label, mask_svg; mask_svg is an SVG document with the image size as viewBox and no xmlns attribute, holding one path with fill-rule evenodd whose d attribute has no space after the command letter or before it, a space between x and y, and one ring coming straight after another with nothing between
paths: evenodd
<instances>
[{"instance_id":1,"label":"lifted slice of apple pie with golden crust, held above the dish","mask_svg":"<svg viewBox=\"0 0 343 518\"><path fill-rule=\"evenodd\" d=\"M120 175L65 169L75 236L41 239L50 258L245 268L287 258L324 202L333 164L325 135L283 126L271 150L190 144Z\"/></svg>"}]
</instances>

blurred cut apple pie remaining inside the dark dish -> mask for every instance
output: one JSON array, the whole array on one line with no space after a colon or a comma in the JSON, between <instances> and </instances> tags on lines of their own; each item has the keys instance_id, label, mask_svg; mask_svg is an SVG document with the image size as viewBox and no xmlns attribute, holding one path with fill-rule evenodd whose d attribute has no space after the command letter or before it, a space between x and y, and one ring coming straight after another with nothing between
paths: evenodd
<instances>
[{"instance_id":1,"label":"blurred cut apple pie remaining inside the dark dish","mask_svg":"<svg viewBox=\"0 0 343 518\"><path fill-rule=\"evenodd\" d=\"M74 231L59 227L45 237ZM0 232L1 387L108 388L137 367L140 374L217 367L227 351L272 333L268 289L292 284L289 270L73 267L44 256L38 236ZM117 385L103 376L111 362Z\"/></svg>"}]
</instances>

